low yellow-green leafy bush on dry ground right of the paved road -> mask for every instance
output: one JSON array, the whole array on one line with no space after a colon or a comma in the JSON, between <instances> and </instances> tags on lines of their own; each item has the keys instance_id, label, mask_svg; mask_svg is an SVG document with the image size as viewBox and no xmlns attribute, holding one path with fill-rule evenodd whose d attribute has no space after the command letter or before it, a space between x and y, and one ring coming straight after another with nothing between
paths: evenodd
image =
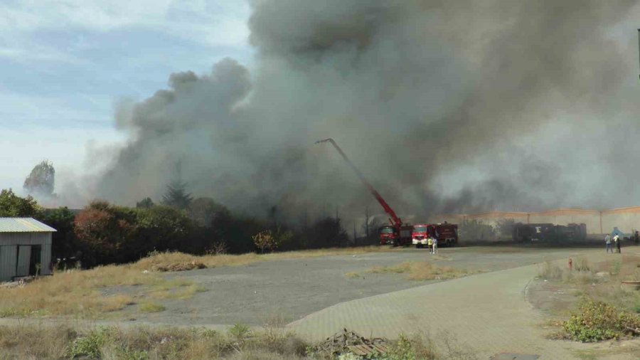
<instances>
[{"instance_id":1,"label":"low yellow-green leafy bush on dry ground right of the paved road","mask_svg":"<svg viewBox=\"0 0 640 360\"><path fill-rule=\"evenodd\" d=\"M571 339L580 342L599 342L633 335L629 328L640 327L640 317L619 311L604 302L587 300L578 311L562 324Z\"/></svg>"}]
</instances>

